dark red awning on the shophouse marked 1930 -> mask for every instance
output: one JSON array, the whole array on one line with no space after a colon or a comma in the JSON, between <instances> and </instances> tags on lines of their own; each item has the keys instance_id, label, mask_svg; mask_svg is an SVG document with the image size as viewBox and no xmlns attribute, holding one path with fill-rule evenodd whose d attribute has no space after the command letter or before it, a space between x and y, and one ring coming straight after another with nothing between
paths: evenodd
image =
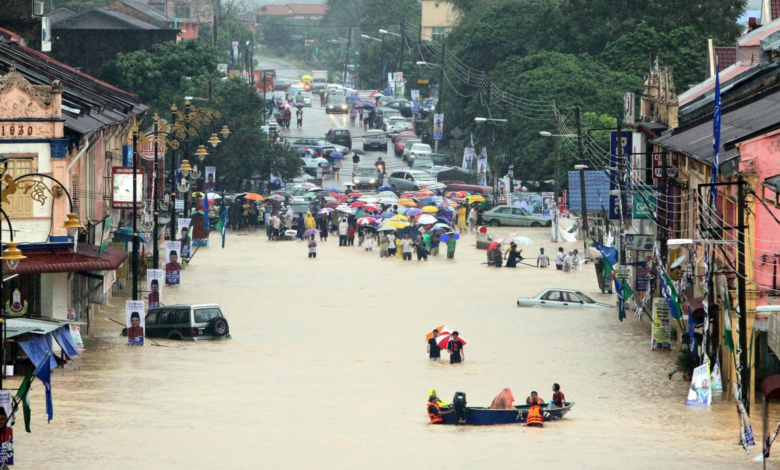
<instances>
[{"instance_id":1,"label":"dark red awning on the shophouse marked 1930","mask_svg":"<svg viewBox=\"0 0 780 470\"><path fill-rule=\"evenodd\" d=\"M5 274L70 273L81 271L112 271L127 258L122 250L109 248L98 254L97 247L79 245L78 253L67 251L22 250L26 256L16 269L5 266Z\"/></svg>"}]
</instances>

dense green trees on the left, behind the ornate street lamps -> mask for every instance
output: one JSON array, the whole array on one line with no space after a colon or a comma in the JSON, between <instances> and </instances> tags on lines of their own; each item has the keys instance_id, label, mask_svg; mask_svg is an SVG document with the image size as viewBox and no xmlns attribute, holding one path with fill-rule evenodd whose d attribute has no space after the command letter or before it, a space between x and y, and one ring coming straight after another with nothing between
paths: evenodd
<instances>
[{"instance_id":1,"label":"dense green trees on the left, behind the ornate street lamps","mask_svg":"<svg viewBox=\"0 0 780 470\"><path fill-rule=\"evenodd\" d=\"M170 116L170 106L179 107L185 96L210 99L196 105L222 113L222 121L232 134L217 149L209 148L206 165L216 165L229 188L238 188L250 176L267 178L272 172L284 179L298 176L299 158L264 138L261 126L262 99L256 89L239 77L224 80L216 71L216 49L201 41L183 41L158 45L152 52L120 54L102 71L104 80L139 94L150 107L149 114ZM212 129L201 129L208 139ZM197 139L197 137L195 137ZM200 142L197 142L200 143Z\"/></svg>"}]
</instances>

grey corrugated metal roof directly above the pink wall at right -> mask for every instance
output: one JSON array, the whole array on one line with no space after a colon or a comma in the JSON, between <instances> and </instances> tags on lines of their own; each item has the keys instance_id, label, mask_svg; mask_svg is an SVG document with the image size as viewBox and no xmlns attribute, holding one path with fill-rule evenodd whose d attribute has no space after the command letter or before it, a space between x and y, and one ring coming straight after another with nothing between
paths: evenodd
<instances>
[{"instance_id":1,"label":"grey corrugated metal roof directly above the pink wall at right","mask_svg":"<svg viewBox=\"0 0 780 470\"><path fill-rule=\"evenodd\" d=\"M780 92L723 115L720 130L721 155L725 152L723 145L726 143L772 127L780 127ZM654 143L711 164L712 120L679 133L667 133Z\"/></svg>"}]
</instances>

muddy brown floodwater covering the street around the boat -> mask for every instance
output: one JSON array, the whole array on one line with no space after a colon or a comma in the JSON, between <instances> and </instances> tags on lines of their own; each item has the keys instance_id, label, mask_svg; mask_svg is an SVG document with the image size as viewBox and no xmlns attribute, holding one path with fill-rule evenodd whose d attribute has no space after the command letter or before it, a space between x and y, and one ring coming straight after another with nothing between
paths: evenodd
<instances>
[{"instance_id":1,"label":"muddy brown floodwater covering the street around the boat","mask_svg":"<svg viewBox=\"0 0 780 470\"><path fill-rule=\"evenodd\" d=\"M521 233L535 242L526 256L557 247L546 229ZM674 353L650 351L647 321L516 307L553 286L611 302L590 265L487 268L473 235L454 260L427 263L339 248L333 237L316 260L303 243L262 233L229 233L224 250L212 239L163 302L218 302L233 339L125 346L107 319L124 317L115 298L82 358L54 373L50 424L36 385L33 433L17 428L20 468L758 466L736 445L732 403L684 406L688 384L667 379ZM441 324L468 341L463 364L427 360L424 336ZM428 389L487 406L503 387L548 400L553 382L576 405L544 429L428 424Z\"/></svg>"}]
</instances>

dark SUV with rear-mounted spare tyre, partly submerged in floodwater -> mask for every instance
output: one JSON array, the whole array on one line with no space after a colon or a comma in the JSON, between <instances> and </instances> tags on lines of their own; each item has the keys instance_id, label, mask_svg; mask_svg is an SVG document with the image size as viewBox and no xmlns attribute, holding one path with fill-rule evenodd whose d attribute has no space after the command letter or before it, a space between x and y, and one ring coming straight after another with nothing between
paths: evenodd
<instances>
[{"instance_id":1,"label":"dark SUV with rear-mounted spare tyre, partly submerged in floodwater","mask_svg":"<svg viewBox=\"0 0 780 470\"><path fill-rule=\"evenodd\" d=\"M181 304L155 307L144 326L150 338L188 341L230 339L230 327L217 304Z\"/></svg>"}]
</instances>

